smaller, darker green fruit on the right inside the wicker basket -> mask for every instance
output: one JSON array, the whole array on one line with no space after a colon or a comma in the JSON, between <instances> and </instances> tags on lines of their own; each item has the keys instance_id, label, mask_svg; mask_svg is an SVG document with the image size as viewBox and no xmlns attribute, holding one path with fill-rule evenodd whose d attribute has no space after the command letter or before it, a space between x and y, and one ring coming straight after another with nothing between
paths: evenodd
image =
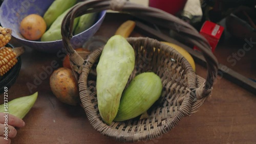
<instances>
[{"instance_id":1,"label":"smaller, darker green fruit on the right inside the wicker basket","mask_svg":"<svg viewBox=\"0 0 256 144\"><path fill-rule=\"evenodd\" d=\"M137 75L124 90L115 122L125 121L147 111L160 97L162 82L153 72Z\"/></svg>"}]
</instances>

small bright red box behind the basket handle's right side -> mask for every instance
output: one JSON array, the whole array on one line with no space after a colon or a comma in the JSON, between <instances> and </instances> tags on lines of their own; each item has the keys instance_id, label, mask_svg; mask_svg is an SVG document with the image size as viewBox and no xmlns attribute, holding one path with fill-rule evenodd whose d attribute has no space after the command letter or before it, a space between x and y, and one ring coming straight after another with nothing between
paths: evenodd
<instances>
[{"instance_id":1,"label":"small bright red box behind the basket handle's right side","mask_svg":"<svg viewBox=\"0 0 256 144\"><path fill-rule=\"evenodd\" d=\"M204 36L211 46L211 52L214 53L215 48L221 38L222 32L224 31L224 27L217 25L211 21L205 21L200 34ZM196 46L194 46L194 50L198 50Z\"/></svg>"}]
</instances>

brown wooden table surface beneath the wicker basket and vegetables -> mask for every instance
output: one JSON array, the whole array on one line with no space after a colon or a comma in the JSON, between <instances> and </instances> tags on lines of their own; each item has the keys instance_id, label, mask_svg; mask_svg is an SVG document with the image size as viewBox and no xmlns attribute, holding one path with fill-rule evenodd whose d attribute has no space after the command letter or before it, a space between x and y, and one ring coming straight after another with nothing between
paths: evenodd
<instances>
[{"instance_id":1,"label":"brown wooden table surface beneath the wicker basket and vegetables","mask_svg":"<svg viewBox=\"0 0 256 144\"><path fill-rule=\"evenodd\" d=\"M129 18L107 14L95 35L111 37L118 26ZM131 36L142 35L135 30ZM15 40L12 42L15 46L21 45ZM215 55L221 63L248 78L256 79L256 45L235 66L227 62L227 57L242 49L244 43L233 39L222 42ZM17 129L17 136L12 139L12 143L117 143L93 129L82 107L68 106L55 98L49 86L50 75L38 82L37 87L30 92L27 83L33 84L35 77L44 71L42 67L50 66L54 60L59 66L62 65L61 58L56 54L40 53L26 47L19 76L9 89L9 101L35 91L38 91L38 99L24 117L26 126ZM205 78L206 69L198 64L196 69L197 74ZM3 98L3 94L0 98ZM167 134L137 143L256 143L256 95L218 77L212 96L198 112L183 118Z\"/></svg>"}]
</instances>

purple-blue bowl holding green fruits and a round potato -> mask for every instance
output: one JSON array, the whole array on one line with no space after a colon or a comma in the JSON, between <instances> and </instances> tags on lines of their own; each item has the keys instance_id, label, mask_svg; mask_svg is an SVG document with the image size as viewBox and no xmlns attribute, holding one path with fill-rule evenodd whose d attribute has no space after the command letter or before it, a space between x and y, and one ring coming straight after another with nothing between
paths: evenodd
<instances>
[{"instance_id":1,"label":"purple-blue bowl holding green fruits and a round potato","mask_svg":"<svg viewBox=\"0 0 256 144\"><path fill-rule=\"evenodd\" d=\"M2 27L10 28L12 30L12 36L20 43L41 52L57 53L63 49L62 40L46 42L32 41L25 39L19 33L20 21L22 21L24 17L29 14L39 14L44 16L53 1L54 0L5 0L0 7L0 23ZM96 22L91 28L73 36L71 44L74 49L82 47L83 43L97 32L105 17L105 13L106 11L102 11L98 14Z\"/></svg>"}]
</instances>

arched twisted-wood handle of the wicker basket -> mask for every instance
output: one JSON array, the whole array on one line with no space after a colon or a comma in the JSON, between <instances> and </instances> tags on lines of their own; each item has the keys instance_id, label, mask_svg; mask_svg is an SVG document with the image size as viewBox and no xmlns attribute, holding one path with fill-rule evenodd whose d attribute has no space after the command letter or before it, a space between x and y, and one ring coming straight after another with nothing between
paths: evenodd
<instances>
[{"instance_id":1,"label":"arched twisted-wood handle of the wicker basket","mask_svg":"<svg viewBox=\"0 0 256 144\"><path fill-rule=\"evenodd\" d=\"M207 61L208 74L205 84L196 89L195 94L198 99L210 94L217 75L218 61L211 53L210 45L207 40L201 36L194 27L172 14L156 8L133 4L125 0L88 0L80 2L71 8L62 21L61 35L65 49L67 50L67 53L71 55L70 59L74 64L81 66L84 63L84 60L74 51L70 43L74 18L86 13L100 12L103 10L130 13L131 15L155 23L156 25L172 29L176 31L183 40L196 45L202 51L204 58Z\"/></svg>"}]
</instances>

